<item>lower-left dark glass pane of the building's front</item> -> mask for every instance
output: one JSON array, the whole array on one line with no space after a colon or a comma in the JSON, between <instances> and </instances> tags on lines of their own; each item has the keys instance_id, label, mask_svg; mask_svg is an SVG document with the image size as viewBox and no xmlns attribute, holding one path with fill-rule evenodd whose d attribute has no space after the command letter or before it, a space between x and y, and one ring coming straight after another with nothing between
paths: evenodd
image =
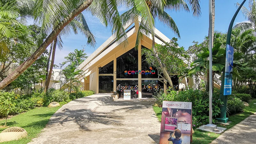
<instances>
[{"instance_id":1,"label":"lower-left dark glass pane of the building's front","mask_svg":"<svg viewBox=\"0 0 256 144\"><path fill-rule=\"evenodd\" d=\"M99 76L99 93L110 93L113 91L114 76Z\"/></svg>"}]
</instances>

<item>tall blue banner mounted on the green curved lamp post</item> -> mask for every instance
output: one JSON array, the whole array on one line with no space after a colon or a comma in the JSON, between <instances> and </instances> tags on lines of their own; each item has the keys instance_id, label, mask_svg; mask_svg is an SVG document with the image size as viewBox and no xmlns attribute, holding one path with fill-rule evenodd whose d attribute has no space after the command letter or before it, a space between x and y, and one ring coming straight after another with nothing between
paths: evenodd
<instances>
[{"instance_id":1,"label":"tall blue banner mounted on the green curved lamp post","mask_svg":"<svg viewBox=\"0 0 256 144\"><path fill-rule=\"evenodd\" d=\"M225 65L224 95L230 95L231 89L232 89L234 48L227 44L226 50L227 51L226 51L226 65Z\"/></svg>"}]
</instances>

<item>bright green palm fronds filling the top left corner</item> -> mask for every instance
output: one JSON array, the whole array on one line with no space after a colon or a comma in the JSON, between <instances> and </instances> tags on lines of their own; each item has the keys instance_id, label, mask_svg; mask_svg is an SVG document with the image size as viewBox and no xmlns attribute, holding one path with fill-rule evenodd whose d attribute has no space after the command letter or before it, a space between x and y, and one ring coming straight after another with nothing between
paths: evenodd
<instances>
[{"instance_id":1,"label":"bright green palm fronds filling the top left corner","mask_svg":"<svg viewBox=\"0 0 256 144\"><path fill-rule=\"evenodd\" d=\"M17 1L0 2L0 60L6 59L10 48L18 44L26 46L24 51L30 53L30 48L35 50L35 45L28 39L28 30L22 19L21 7ZM17 44L18 43L18 44ZM17 45L16 45L17 44ZM23 48L23 47L21 47ZM25 53L24 52L24 53Z\"/></svg>"}]
</instances>

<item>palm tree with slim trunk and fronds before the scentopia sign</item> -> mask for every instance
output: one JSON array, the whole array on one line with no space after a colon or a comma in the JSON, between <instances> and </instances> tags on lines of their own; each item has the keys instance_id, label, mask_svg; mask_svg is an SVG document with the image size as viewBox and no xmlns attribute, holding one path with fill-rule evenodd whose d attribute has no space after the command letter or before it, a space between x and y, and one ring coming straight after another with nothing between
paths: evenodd
<instances>
[{"instance_id":1,"label":"palm tree with slim trunk and fronds before the scentopia sign","mask_svg":"<svg viewBox=\"0 0 256 144\"><path fill-rule=\"evenodd\" d=\"M192 6L193 15L200 16L201 10L199 0L189 0L189 4ZM178 37L180 33L172 17L165 12L165 10L185 10L189 11L188 5L183 0L172 0L172 1L157 1L157 0L134 0L127 3L127 7L132 7L127 12L121 15L121 19L124 24L131 21L138 20L141 18L140 25L138 28L136 47L140 44L140 40L143 39L143 34L151 34L152 36L152 49L156 56L157 62L163 70L164 77L173 88L171 77L161 62L158 52L155 49L155 20L158 19L163 25L170 28Z\"/></svg>"}]
</instances>

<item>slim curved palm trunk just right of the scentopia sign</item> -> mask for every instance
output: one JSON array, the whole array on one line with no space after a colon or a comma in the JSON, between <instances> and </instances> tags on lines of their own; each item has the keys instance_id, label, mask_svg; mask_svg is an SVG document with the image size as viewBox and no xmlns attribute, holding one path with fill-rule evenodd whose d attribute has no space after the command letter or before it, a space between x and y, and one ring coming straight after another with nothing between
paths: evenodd
<instances>
[{"instance_id":1,"label":"slim curved palm trunk just right of the scentopia sign","mask_svg":"<svg viewBox=\"0 0 256 144\"><path fill-rule=\"evenodd\" d=\"M158 56L158 53L156 52L156 48L155 48L155 36L154 34L152 35L152 49L153 49L153 52L156 56L156 60L157 62L159 63L161 69L163 70L163 73L164 73L164 77L167 79L168 83L171 85L171 89L174 90L174 87L173 87L173 84L172 84L172 79L170 77L170 75L168 74L167 70L164 68L164 65L162 63L162 61L160 60L159 56Z\"/></svg>"}]
</instances>

